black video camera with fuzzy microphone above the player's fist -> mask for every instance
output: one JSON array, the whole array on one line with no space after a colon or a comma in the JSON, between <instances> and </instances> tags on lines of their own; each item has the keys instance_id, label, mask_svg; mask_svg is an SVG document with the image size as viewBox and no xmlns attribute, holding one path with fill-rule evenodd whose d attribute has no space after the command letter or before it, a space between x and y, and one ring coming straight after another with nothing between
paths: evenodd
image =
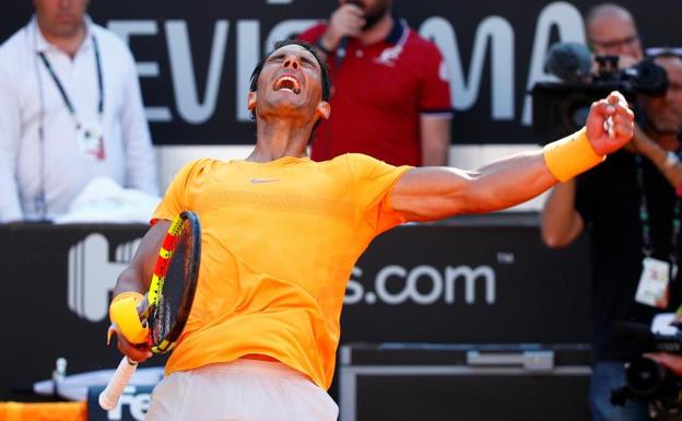
<instances>
[{"instance_id":1,"label":"black video camera with fuzzy microphone above the player's fist","mask_svg":"<svg viewBox=\"0 0 682 421\"><path fill-rule=\"evenodd\" d=\"M618 56L595 58L583 44L554 44L548 51L545 69L560 82L539 82L531 90L532 131L540 142L563 138L579 130L587 120L590 105L620 91L633 103L637 95L661 95L668 90L668 77L650 59L619 69Z\"/></svg>"}]
</instances>

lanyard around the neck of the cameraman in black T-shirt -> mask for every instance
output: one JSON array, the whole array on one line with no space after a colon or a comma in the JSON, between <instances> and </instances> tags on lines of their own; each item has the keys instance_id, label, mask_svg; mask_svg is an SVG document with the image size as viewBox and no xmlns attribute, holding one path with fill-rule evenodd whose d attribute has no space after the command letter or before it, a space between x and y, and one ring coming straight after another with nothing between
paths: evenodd
<instances>
[{"instance_id":1,"label":"lanyard around the neck of the cameraman in black T-shirt","mask_svg":"<svg viewBox=\"0 0 682 421\"><path fill-rule=\"evenodd\" d=\"M637 167L637 187L639 188L639 220L642 221L642 244L643 253L649 257L654 254L654 242L651 241L651 225L649 224L649 207L644 188L644 169L642 168L642 156L635 155L635 164ZM672 268L671 281L677 278L678 256L680 252L680 232L682 231L682 221L680 221L680 197L675 196L675 202L672 208L672 238L670 239L670 266Z\"/></svg>"}]
</instances>

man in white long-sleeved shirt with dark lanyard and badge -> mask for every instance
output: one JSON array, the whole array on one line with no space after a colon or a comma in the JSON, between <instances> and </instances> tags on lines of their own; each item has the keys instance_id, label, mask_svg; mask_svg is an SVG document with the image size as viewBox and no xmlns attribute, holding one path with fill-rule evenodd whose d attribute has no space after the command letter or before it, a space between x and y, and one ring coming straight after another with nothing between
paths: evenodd
<instances>
[{"instance_id":1,"label":"man in white long-sleeved shirt with dark lanyard and badge","mask_svg":"<svg viewBox=\"0 0 682 421\"><path fill-rule=\"evenodd\" d=\"M34 0L0 46L0 222L66 213L98 176L158 195L134 60L87 3Z\"/></svg>"}]
</instances>

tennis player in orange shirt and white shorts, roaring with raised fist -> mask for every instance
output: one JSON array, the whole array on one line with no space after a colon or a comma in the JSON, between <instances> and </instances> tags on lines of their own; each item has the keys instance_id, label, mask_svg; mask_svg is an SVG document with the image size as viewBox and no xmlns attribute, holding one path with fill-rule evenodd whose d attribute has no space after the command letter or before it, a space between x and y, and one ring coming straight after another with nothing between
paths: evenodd
<instances>
[{"instance_id":1,"label":"tennis player in orange shirt and white shorts, roaring with raised fist","mask_svg":"<svg viewBox=\"0 0 682 421\"><path fill-rule=\"evenodd\" d=\"M251 75L251 154L192 162L166 191L114 299L146 291L169 221L196 212L202 254L193 306L146 420L336 420L326 389L345 284L375 236L407 221L522 202L633 135L633 113L612 93L579 132L474 172L395 167L361 154L313 162L306 147L329 117L328 97L314 50L279 44ZM151 355L117 334L131 360Z\"/></svg>"}]
</instances>

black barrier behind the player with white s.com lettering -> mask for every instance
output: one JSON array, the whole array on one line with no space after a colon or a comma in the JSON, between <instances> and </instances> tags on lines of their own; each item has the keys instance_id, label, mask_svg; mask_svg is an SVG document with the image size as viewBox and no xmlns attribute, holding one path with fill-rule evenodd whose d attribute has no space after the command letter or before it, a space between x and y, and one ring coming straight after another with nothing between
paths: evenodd
<instances>
[{"instance_id":1,"label":"black barrier behind the player with white s.com lettering","mask_svg":"<svg viewBox=\"0 0 682 421\"><path fill-rule=\"evenodd\" d=\"M534 217L514 218L403 225L376 238L349 282L342 343L589 342L585 238L551 250ZM118 365L116 347L105 343L108 303L145 230L0 226L0 399L26 398L21 393L49 378L60 356L68 374Z\"/></svg>"}]
</instances>

